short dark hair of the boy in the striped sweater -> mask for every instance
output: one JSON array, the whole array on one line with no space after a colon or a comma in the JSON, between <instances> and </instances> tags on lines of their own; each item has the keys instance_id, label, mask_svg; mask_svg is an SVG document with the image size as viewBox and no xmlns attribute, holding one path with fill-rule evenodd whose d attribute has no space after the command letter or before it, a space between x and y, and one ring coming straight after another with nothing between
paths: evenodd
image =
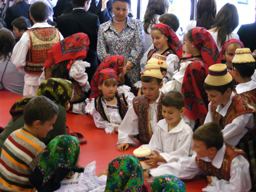
<instances>
[{"instance_id":1,"label":"short dark hair of the boy in the striped sweater","mask_svg":"<svg viewBox=\"0 0 256 192\"><path fill-rule=\"evenodd\" d=\"M28 126L32 126L36 120L40 120L41 124L44 124L58 113L59 108L51 99L46 96L33 97L25 106L24 122Z\"/></svg>"}]
</instances>

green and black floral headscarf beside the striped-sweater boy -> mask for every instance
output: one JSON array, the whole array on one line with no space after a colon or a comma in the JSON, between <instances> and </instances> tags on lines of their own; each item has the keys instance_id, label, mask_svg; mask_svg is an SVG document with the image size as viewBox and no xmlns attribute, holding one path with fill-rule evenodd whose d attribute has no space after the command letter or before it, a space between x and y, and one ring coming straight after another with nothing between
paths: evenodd
<instances>
[{"instance_id":1,"label":"green and black floral headscarf beside the striped-sweater boy","mask_svg":"<svg viewBox=\"0 0 256 192\"><path fill-rule=\"evenodd\" d=\"M60 182L74 172L83 172L77 166L80 144L70 135L56 136L46 146L29 181L39 192L51 192L60 187Z\"/></svg>"}]
</instances>

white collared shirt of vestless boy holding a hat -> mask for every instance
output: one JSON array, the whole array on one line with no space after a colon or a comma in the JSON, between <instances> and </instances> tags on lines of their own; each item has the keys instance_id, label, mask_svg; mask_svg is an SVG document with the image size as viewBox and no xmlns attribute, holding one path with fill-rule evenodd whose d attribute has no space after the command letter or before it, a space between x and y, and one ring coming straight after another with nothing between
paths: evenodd
<instances>
[{"instance_id":1,"label":"white collared shirt of vestless boy holding a hat","mask_svg":"<svg viewBox=\"0 0 256 192\"><path fill-rule=\"evenodd\" d=\"M167 163L178 161L182 156L188 156L193 145L193 131L183 119L179 124L168 132L168 123L165 119L158 121L156 130L150 143L140 147L157 150ZM162 164L162 163L159 163Z\"/></svg>"}]
</instances>

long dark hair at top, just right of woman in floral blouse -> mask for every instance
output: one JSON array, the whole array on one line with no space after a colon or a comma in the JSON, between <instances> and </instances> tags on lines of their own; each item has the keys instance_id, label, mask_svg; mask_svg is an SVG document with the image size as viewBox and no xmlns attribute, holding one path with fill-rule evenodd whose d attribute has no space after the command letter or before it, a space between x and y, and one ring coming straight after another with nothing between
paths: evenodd
<instances>
[{"instance_id":1,"label":"long dark hair at top, just right of woman in floral blouse","mask_svg":"<svg viewBox=\"0 0 256 192\"><path fill-rule=\"evenodd\" d=\"M156 24L155 15L162 15L168 11L169 8L169 1L168 0L149 0L146 12L144 15L143 21L143 28L145 33L149 34L147 28L152 25Z\"/></svg>"}]
</instances>

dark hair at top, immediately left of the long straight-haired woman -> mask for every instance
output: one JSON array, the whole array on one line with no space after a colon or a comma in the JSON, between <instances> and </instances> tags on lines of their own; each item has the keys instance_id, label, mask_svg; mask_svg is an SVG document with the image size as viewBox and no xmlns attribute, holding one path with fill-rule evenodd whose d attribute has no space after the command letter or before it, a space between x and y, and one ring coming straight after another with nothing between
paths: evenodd
<instances>
[{"instance_id":1,"label":"dark hair at top, immediately left of the long straight-haired woman","mask_svg":"<svg viewBox=\"0 0 256 192\"><path fill-rule=\"evenodd\" d=\"M210 29L215 23L216 0L199 0L197 3L197 27Z\"/></svg>"}]
</instances>

